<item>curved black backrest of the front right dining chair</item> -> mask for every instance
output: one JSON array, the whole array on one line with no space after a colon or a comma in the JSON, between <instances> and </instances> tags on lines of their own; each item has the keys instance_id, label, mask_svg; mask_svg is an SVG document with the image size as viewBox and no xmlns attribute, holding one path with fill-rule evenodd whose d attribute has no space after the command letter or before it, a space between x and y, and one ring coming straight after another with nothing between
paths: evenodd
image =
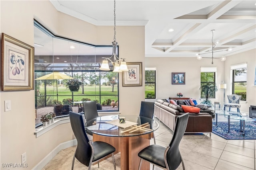
<instances>
[{"instance_id":1,"label":"curved black backrest of the front right dining chair","mask_svg":"<svg viewBox=\"0 0 256 170\"><path fill-rule=\"evenodd\" d=\"M169 144L170 149L166 154L166 160L170 170L177 169L180 163L182 162L179 145L186 131L186 127L188 124L188 116L189 116L189 113L185 113L177 117L175 130L172 136L172 140Z\"/></svg>"}]
</instances>

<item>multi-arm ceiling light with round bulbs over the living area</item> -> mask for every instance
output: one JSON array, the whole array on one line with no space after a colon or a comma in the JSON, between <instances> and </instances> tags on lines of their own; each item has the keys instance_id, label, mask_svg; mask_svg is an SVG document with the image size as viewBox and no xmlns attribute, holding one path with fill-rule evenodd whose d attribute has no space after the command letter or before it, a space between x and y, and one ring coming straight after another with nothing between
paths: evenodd
<instances>
[{"instance_id":1,"label":"multi-arm ceiling light with round bulbs over the living area","mask_svg":"<svg viewBox=\"0 0 256 170\"><path fill-rule=\"evenodd\" d=\"M215 43L213 43L213 32L215 31L215 29L212 29L211 32L212 32L212 49L210 49L209 51L205 52L205 53L199 53L199 54L196 54L196 58L198 60L201 60L202 58L208 58L208 59L212 59L212 64L213 64L213 59L220 59L221 61L225 61L226 60L226 57L222 56L220 58L217 58L217 57L213 57L213 53L216 53L216 52L220 52L220 51L232 51L232 47L229 47L228 49L224 49L224 50L218 50L218 51L214 51L213 49L216 47L216 45L218 45L218 43L220 43L219 41L216 41ZM204 55L204 54L209 54L209 53L212 53L212 57L202 57L201 55Z\"/></svg>"}]
</instances>

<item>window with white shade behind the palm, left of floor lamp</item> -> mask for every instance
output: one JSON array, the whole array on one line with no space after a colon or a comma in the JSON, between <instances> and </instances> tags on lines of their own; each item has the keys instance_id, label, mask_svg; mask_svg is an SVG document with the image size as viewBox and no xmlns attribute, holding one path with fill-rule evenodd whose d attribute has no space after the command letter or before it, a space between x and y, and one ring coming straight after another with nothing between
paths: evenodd
<instances>
[{"instance_id":1,"label":"window with white shade behind the palm, left of floor lamp","mask_svg":"<svg viewBox=\"0 0 256 170\"><path fill-rule=\"evenodd\" d=\"M215 98L215 73L216 67L201 67L201 98Z\"/></svg>"}]
</instances>

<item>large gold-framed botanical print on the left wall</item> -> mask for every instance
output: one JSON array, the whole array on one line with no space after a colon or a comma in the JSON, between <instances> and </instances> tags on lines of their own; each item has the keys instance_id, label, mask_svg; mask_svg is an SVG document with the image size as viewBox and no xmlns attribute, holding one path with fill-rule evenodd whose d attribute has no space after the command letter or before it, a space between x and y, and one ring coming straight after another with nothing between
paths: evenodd
<instances>
[{"instance_id":1,"label":"large gold-framed botanical print on the left wall","mask_svg":"<svg viewBox=\"0 0 256 170\"><path fill-rule=\"evenodd\" d=\"M1 90L34 89L34 47L2 33Z\"/></svg>"}]
</instances>

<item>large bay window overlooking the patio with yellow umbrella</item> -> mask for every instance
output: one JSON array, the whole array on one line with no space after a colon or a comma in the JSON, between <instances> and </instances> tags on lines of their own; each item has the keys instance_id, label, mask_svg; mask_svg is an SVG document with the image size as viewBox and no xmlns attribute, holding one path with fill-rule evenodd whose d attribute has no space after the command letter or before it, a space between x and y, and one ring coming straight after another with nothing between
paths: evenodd
<instances>
[{"instance_id":1,"label":"large bay window overlooking the patio with yellow umbrella","mask_svg":"<svg viewBox=\"0 0 256 170\"><path fill-rule=\"evenodd\" d=\"M35 20L34 47L36 127L42 125L42 115L56 111L56 105L69 105L78 112L82 110L74 102L94 100L100 105L98 111L119 110L118 106L110 105L119 98L118 73L99 69L102 57L112 55L112 46L90 45L56 36ZM78 92L70 92L66 85L68 78L36 80L56 72L77 78L83 85ZM56 118L64 116L68 116L68 110L56 114Z\"/></svg>"}]
</instances>

